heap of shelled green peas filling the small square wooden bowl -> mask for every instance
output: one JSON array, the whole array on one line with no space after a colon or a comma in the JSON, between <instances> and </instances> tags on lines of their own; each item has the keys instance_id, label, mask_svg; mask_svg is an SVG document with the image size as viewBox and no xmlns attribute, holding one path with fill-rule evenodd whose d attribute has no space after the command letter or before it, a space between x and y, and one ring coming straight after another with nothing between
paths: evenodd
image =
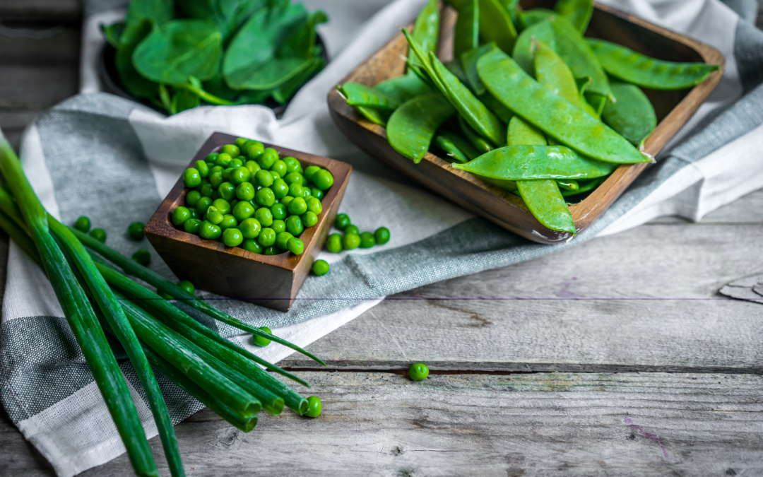
<instances>
[{"instance_id":1,"label":"heap of shelled green peas filling the small square wooden bowl","mask_svg":"<svg viewBox=\"0 0 763 477\"><path fill-rule=\"evenodd\" d=\"M301 255L299 236L317 224L333 180L326 169L303 169L294 157L240 137L185 169L189 190L185 205L172 211L172 224L227 247Z\"/></svg>"}]
</instances>

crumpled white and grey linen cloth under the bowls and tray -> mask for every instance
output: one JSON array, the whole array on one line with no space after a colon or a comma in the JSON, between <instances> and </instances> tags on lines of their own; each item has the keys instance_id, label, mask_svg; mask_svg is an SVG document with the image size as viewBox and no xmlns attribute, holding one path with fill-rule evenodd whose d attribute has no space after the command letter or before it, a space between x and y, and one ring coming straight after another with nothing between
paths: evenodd
<instances>
[{"instance_id":1,"label":"crumpled white and grey linen cloth under the bowls and tray","mask_svg":"<svg viewBox=\"0 0 763 477\"><path fill-rule=\"evenodd\" d=\"M752 24L755 0L606 2L716 47L726 57L726 72L657 165L591 228L570 243L551 246L517 237L401 178L354 147L331 121L326 103L330 88L396 34L399 25L413 21L423 0L304 3L329 15L320 33L330 63L304 85L281 120L253 105L196 108L166 118L100 92L95 68L103 40L98 25L123 18L125 2L86 3L82 94L42 114L28 128L21 147L24 168L48 211L65 223L88 215L94 227L108 231L111 247L130 254L148 245L128 240L126 225L150 217L213 131L353 164L340 211L361 230L388 227L389 243L351 253L321 253L331 272L309 277L288 313L233 300L214 302L247 323L267 325L306 346L385 295L533 259L664 214L696 221L763 186L763 33ZM151 268L172 277L156 253ZM250 336L205 323L272 362L291 353L278 345L253 350ZM124 356L118 358L146 435L153 437L156 427L143 389ZM163 376L157 378L174 422L202 408ZM58 475L76 475L124 453L52 288L13 243L0 327L0 399Z\"/></svg>"}]
</instances>

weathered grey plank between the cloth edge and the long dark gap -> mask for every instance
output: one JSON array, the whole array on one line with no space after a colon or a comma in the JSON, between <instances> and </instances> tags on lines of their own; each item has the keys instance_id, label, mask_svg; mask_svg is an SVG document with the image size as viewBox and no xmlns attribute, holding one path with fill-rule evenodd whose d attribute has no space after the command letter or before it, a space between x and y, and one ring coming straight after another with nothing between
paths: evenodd
<instances>
[{"instance_id":1,"label":"weathered grey plank between the cloth edge and the long dark gap","mask_svg":"<svg viewBox=\"0 0 763 477\"><path fill-rule=\"evenodd\" d=\"M717 294L763 268L761 233L638 227L394 295L308 349L344 369L763 372L763 307Z\"/></svg>"}]
</instances>

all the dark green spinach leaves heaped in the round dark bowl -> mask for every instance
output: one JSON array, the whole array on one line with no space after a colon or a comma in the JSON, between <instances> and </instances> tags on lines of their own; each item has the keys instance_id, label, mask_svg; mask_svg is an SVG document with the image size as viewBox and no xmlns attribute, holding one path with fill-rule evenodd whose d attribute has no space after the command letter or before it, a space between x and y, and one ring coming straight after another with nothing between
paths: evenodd
<instances>
[{"instance_id":1,"label":"all the dark green spinach leaves heaped in the round dark bowl","mask_svg":"<svg viewBox=\"0 0 763 477\"><path fill-rule=\"evenodd\" d=\"M124 88L175 114L288 102L324 67L315 28L327 20L289 0L131 0L102 30Z\"/></svg>"}]
</instances>

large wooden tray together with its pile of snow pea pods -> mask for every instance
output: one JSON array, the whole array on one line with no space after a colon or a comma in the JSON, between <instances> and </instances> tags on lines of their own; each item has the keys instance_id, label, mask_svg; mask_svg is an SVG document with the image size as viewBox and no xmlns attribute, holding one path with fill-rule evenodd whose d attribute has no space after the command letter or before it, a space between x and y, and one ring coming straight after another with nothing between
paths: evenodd
<instances>
[{"instance_id":1,"label":"large wooden tray together with its pile of snow pea pods","mask_svg":"<svg viewBox=\"0 0 763 477\"><path fill-rule=\"evenodd\" d=\"M328 103L376 159L559 243L655 162L723 65L712 47L591 0L430 0Z\"/></svg>"}]
</instances>

